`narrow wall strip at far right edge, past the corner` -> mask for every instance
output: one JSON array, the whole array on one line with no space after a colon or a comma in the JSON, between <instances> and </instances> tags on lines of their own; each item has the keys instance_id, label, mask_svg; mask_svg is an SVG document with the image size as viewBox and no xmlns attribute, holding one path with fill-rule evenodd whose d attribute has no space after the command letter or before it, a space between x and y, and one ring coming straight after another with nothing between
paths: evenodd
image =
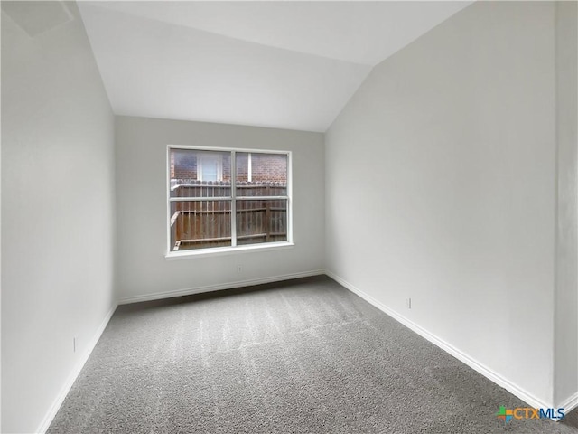
<instances>
[{"instance_id":1,"label":"narrow wall strip at far right edge, past the corner","mask_svg":"<svg viewBox=\"0 0 578 434\"><path fill-rule=\"evenodd\" d=\"M576 2L556 4L556 137L558 145L558 207L555 293L555 405L574 395L578 403L578 8Z\"/></svg>"}]
</instances>

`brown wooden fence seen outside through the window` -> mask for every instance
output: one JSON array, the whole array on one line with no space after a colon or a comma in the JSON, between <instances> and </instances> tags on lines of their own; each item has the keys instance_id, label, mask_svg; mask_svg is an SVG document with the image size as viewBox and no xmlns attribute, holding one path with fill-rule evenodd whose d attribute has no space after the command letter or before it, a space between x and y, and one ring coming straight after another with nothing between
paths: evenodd
<instances>
[{"instance_id":1,"label":"brown wooden fence seen outside through the window","mask_svg":"<svg viewBox=\"0 0 578 434\"><path fill-rule=\"evenodd\" d=\"M238 183L236 208L237 244L287 240L286 199L259 199L284 196L280 183ZM171 203L172 250L191 250L231 245L231 195L228 181L175 183L171 197L207 200Z\"/></svg>"}]
</instances>

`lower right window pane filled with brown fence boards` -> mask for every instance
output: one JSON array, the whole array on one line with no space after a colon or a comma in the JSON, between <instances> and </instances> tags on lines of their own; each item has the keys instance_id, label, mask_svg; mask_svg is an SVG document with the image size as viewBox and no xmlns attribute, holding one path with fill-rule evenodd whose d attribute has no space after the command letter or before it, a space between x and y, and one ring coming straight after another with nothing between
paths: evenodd
<instances>
[{"instance_id":1,"label":"lower right window pane filled with brown fence boards","mask_svg":"<svg viewBox=\"0 0 578 434\"><path fill-rule=\"evenodd\" d=\"M275 241L287 241L287 201L237 201L237 244Z\"/></svg>"}]
</instances>

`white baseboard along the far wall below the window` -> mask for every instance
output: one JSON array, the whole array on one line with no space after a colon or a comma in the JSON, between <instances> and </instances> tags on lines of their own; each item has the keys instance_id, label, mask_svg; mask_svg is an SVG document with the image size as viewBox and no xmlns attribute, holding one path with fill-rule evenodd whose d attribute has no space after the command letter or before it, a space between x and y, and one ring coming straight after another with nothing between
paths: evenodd
<instances>
[{"instance_id":1,"label":"white baseboard along the far wall below the window","mask_svg":"<svg viewBox=\"0 0 578 434\"><path fill-rule=\"evenodd\" d=\"M268 278L252 278L249 280L238 280L237 282L228 282L218 285L207 285L205 287L176 289L173 291L157 292L154 294L147 294L144 296L123 297L118 300L119 305L126 305L129 303L139 303L141 301L152 301L163 298L191 296L193 294L201 294L203 292L219 291L221 289L232 289L250 287L253 285L261 285L263 283L280 282L282 280L290 280L292 278L308 278L311 276L319 276L325 274L324 269L313 269L311 271L304 271L301 273L284 274L281 276L271 276Z\"/></svg>"}]
</instances>

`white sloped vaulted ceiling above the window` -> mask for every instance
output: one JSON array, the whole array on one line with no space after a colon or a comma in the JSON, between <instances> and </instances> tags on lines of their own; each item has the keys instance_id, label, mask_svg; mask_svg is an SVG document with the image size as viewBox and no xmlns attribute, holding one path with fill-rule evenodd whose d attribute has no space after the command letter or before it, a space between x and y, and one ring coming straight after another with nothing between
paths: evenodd
<instances>
[{"instance_id":1,"label":"white sloped vaulted ceiling above the window","mask_svg":"<svg viewBox=\"0 0 578 434\"><path fill-rule=\"evenodd\" d=\"M119 115L325 131L372 67L472 2L79 2Z\"/></svg>"}]
</instances>

